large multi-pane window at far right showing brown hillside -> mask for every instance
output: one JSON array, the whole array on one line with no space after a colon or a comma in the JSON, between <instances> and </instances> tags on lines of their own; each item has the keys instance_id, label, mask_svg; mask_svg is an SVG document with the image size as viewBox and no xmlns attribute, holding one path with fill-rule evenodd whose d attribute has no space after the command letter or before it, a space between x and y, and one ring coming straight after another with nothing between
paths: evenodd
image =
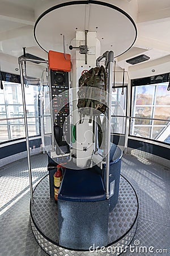
<instances>
[{"instance_id":1,"label":"large multi-pane window at far right showing brown hillside","mask_svg":"<svg viewBox=\"0 0 170 256\"><path fill-rule=\"evenodd\" d=\"M170 143L169 82L132 87L130 135Z\"/></svg>"}]
</instances>

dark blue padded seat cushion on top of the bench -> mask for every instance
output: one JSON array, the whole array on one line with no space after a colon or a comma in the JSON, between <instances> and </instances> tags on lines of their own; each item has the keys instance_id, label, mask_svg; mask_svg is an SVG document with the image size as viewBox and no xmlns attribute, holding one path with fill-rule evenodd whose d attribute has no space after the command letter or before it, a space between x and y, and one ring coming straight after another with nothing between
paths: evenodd
<instances>
[{"instance_id":1,"label":"dark blue padded seat cushion on top of the bench","mask_svg":"<svg viewBox=\"0 0 170 256\"><path fill-rule=\"evenodd\" d=\"M92 202L105 200L105 190L100 174L92 168L66 169L58 193L58 200Z\"/></svg>"}]
</instances>

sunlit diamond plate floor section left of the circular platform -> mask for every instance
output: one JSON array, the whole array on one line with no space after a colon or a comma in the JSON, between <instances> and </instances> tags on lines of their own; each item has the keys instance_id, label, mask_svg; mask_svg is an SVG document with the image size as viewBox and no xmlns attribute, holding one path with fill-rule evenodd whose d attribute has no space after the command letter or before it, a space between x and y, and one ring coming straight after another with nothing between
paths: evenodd
<instances>
[{"instance_id":1,"label":"sunlit diamond plate floor section left of the circular platform","mask_svg":"<svg viewBox=\"0 0 170 256\"><path fill-rule=\"evenodd\" d=\"M33 187L47 174L46 155L31 156ZM0 169L0 255L46 256L32 234L29 214L29 177L27 159Z\"/></svg>"}]
</instances>

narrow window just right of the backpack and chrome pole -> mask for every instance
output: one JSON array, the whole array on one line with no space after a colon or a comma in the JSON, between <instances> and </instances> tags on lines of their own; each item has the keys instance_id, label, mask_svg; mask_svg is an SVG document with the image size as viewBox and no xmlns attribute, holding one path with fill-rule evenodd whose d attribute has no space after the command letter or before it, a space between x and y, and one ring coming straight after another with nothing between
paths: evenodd
<instances>
[{"instance_id":1,"label":"narrow window just right of the backpack and chrome pole","mask_svg":"<svg viewBox=\"0 0 170 256\"><path fill-rule=\"evenodd\" d=\"M126 127L126 87L122 95L122 87L116 87L112 92L111 123L112 131L116 134L125 134Z\"/></svg>"}]
</instances>

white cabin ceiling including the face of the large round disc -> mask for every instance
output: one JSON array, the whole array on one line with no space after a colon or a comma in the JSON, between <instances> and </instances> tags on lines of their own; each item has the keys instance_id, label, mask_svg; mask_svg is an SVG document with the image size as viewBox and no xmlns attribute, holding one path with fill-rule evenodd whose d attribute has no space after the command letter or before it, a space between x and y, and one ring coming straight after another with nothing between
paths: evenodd
<instances>
[{"instance_id":1,"label":"white cabin ceiling including the face of the large round disc","mask_svg":"<svg viewBox=\"0 0 170 256\"><path fill-rule=\"evenodd\" d=\"M45 55L33 36L35 13L38 5L55 6L67 0L0 0L0 52L18 57L22 47L27 47L32 54ZM105 1L116 5L118 0ZM122 0L133 9L134 1ZM140 54L150 55L150 60L163 60L170 54L170 0L136 0L138 13L136 26L138 31L135 40L135 28L126 15L107 6L74 5L62 7L46 14L36 27L36 38L47 51L63 51L73 43L76 31L96 31L101 43L101 52L113 50L117 63L128 68L126 60ZM48 9L47 7L46 9ZM45 9L45 10L46 10ZM126 8L124 9L126 10ZM75 42L76 44L76 42ZM74 45L75 46L75 45ZM73 51L71 52L73 54ZM146 63L148 63L146 61ZM137 64L139 67L139 64ZM141 64L145 65L145 63ZM131 66L131 68L133 68Z\"/></svg>"}]
</instances>

